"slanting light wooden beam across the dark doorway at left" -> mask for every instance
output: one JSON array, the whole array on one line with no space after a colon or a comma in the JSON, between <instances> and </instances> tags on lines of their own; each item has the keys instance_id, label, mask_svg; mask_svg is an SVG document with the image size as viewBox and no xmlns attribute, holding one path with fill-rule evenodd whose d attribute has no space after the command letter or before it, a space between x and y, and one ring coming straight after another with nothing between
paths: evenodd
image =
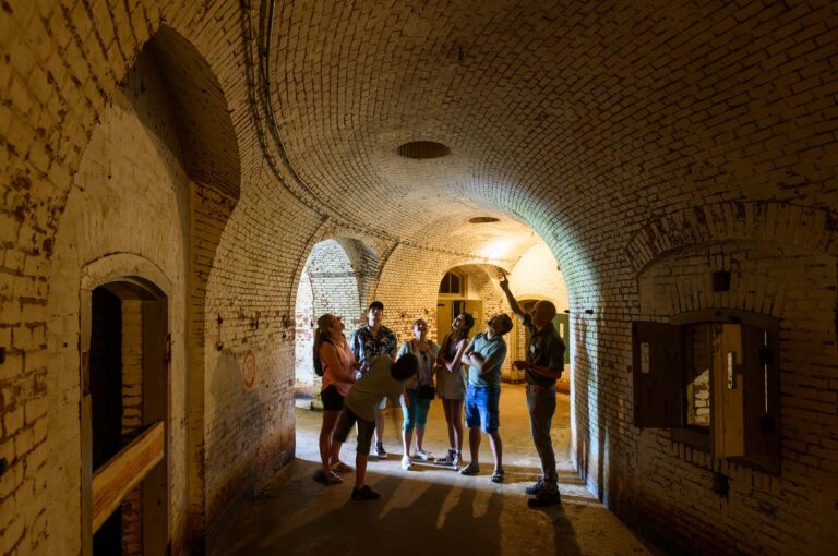
<instances>
[{"instance_id":1,"label":"slanting light wooden beam across the dark doorway at left","mask_svg":"<svg viewBox=\"0 0 838 556\"><path fill-rule=\"evenodd\" d=\"M164 433L163 421L157 421L94 473L94 533L119 507L122 498L163 459Z\"/></svg>"}]
</instances>

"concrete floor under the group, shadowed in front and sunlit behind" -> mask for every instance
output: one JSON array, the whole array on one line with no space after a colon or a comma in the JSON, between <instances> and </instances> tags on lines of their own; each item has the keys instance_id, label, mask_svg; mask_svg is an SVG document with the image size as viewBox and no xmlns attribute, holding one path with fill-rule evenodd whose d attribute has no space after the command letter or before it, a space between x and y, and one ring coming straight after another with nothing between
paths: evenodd
<instances>
[{"instance_id":1,"label":"concrete floor under the group, shadowed in front and sunlit behind","mask_svg":"<svg viewBox=\"0 0 838 556\"><path fill-rule=\"evenodd\" d=\"M537 479L523 386L504 385L501 436L506 481L491 483L491 452L483 437L478 476L447 469L400 466L402 412L391 411L386 461L371 460L367 482L382 494L374 501L349 499L351 475L335 486L312 480L319 469L321 413L297 409L297 459L246 500L211 539L216 555L644 555L666 554L627 529L586 488L568 457L568 397L559 395L553 439L562 506L527 507L524 487ZM424 448L447 446L442 407L431 406ZM467 448L466 448L467 452ZM467 457L467 455L466 455ZM355 460L350 437L342 459Z\"/></svg>"}]
</instances>

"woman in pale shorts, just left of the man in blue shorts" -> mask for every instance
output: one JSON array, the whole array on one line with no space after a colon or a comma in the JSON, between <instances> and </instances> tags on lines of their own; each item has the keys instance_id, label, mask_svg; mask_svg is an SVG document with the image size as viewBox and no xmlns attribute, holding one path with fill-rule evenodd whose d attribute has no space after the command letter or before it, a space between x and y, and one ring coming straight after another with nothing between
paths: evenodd
<instances>
[{"instance_id":1,"label":"woman in pale shorts, just left of the man in blue shorts","mask_svg":"<svg viewBox=\"0 0 838 556\"><path fill-rule=\"evenodd\" d=\"M436 355L436 394L442 399L445 423L448 428L448 454L436 459L438 463L459 467L463 457L463 403L466 398L466 374L463 353L468 346L468 333L475 326L475 317L462 313L454 318L451 334L442 340Z\"/></svg>"}]
</instances>

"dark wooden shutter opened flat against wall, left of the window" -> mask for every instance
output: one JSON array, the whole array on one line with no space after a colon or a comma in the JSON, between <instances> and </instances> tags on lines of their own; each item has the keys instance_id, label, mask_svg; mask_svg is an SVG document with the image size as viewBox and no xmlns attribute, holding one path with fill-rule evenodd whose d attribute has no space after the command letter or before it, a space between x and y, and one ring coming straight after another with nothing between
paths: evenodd
<instances>
[{"instance_id":1,"label":"dark wooden shutter opened flat against wall, left of the window","mask_svg":"<svg viewBox=\"0 0 838 556\"><path fill-rule=\"evenodd\" d=\"M683 339L680 326L635 322L634 425L682 426Z\"/></svg>"}]
</instances>

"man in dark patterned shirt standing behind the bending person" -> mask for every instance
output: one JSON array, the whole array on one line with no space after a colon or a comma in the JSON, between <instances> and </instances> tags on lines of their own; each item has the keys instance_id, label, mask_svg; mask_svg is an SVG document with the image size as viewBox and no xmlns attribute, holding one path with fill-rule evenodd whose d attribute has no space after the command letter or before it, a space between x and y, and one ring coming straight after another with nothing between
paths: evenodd
<instances>
[{"instance_id":1,"label":"man in dark patterned shirt standing behind the bending person","mask_svg":"<svg viewBox=\"0 0 838 556\"><path fill-rule=\"evenodd\" d=\"M355 359L361 364L359 376L367 372L372 360L378 355L387 355L392 361L396 360L396 335L393 330L381 324L384 318L384 304L373 301L367 309L367 324L358 328L352 335L351 350ZM384 408L387 401L382 400L381 407L375 412L375 451L380 459L387 457L384 450Z\"/></svg>"}]
</instances>

